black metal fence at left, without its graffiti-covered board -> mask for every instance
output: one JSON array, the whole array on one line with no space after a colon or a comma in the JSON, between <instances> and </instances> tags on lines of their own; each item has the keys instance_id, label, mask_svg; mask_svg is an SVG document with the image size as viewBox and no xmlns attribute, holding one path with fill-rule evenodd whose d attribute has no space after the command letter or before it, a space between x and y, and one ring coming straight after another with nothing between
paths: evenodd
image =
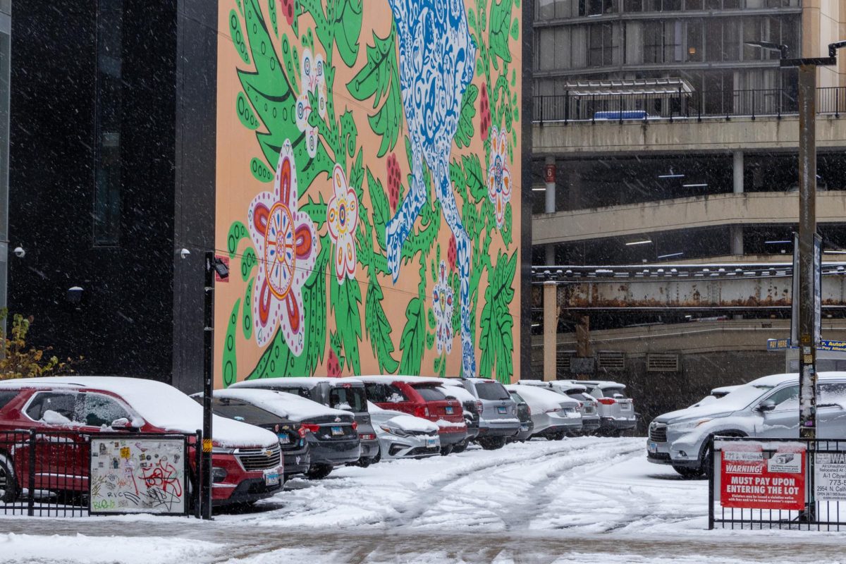
<instances>
[{"instance_id":1,"label":"black metal fence at left, without its graffiti-covered board","mask_svg":"<svg viewBox=\"0 0 846 564\"><path fill-rule=\"evenodd\" d=\"M202 444L200 431L195 435L0 431L0 514L83 517L102 513L91 507L91 440L128 438L182 441L182 454L176 463L184 472L189 491L184 492L186 502L179 514L200 517L201 496L196 492L200 491L201 449L194 447ZM162 479L169 478L161 473L155 477ZM115 512L120 512L119 507Z\"/></svg>"}]
</instances>

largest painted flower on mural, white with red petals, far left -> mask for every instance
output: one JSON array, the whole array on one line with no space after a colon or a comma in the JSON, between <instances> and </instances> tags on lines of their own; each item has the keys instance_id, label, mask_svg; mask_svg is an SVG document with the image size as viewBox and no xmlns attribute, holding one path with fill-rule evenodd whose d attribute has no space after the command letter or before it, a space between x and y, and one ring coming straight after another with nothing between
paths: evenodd
<instances>
[{"instance_id":1,"label":"largest painted flower on mural, white with red petals, far left","mask_svg":"<svg viewBox=\"0 0 846 564\"><path fill-rule=\"evenodd\" d=\"M299 211L294 150L285 140L279 152L273 192L250 203L250 237L259 271L253 288L255 341L270 342L277 326L295 355L305 345L302 289L317 259L317 238L310 217Z\"/></svg>"}]
</instances>

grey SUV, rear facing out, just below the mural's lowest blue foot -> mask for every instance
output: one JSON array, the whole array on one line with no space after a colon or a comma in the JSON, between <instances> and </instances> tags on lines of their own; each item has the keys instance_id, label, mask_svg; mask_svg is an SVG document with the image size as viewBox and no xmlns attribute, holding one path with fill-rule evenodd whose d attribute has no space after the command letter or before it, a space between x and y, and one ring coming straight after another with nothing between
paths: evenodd
<instances>
[{"instance_id":1,"label":"grey SUV, rear facing out, just below the mural's lowest blue foot","mask_svg":"<svg viewBox=\"0 0 846 564\"><path fill-rule=\"evenodd\" d=\"M511 399L511 394L502 384L490 378L461 378L459 381L481 402L476 442L485 450L502 448L505 440L517 435L520 430L517 404Z\"/></svg>"}]
</instances>

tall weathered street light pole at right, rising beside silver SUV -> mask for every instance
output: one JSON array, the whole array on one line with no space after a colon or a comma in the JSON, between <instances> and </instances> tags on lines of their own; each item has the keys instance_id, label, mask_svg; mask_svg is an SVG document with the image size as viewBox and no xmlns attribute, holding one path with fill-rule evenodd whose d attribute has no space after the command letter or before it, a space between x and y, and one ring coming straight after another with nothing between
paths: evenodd
<instances>
[{"instance_id":1,"label":"tall weathered street light pole at right, rising beside silver SUV","mask_svg":"<svg viewBox=\"0 0 846 564\"><path fill-rule=\"evenodd\" d=\"M799 67L799 436L816 439L816 65Z\"/></svg>"}]
</instances>

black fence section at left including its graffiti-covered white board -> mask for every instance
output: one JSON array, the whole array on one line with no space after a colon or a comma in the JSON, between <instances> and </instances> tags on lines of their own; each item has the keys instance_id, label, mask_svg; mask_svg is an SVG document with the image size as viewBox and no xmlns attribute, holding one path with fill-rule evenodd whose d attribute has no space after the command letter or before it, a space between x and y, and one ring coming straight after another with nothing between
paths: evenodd
<instances>
[{"instance_id":1,"label":"black fence section at left including its graffiti-covered white board","mask_svg":"<svg viewBox=\"0 0 846 564\"><path fill-rule=\"evenodd\" d=\"M200 431L0 431L0 515L199 518L201 449L193 446L201 444Z\"/></svg>"}]
</instances>

